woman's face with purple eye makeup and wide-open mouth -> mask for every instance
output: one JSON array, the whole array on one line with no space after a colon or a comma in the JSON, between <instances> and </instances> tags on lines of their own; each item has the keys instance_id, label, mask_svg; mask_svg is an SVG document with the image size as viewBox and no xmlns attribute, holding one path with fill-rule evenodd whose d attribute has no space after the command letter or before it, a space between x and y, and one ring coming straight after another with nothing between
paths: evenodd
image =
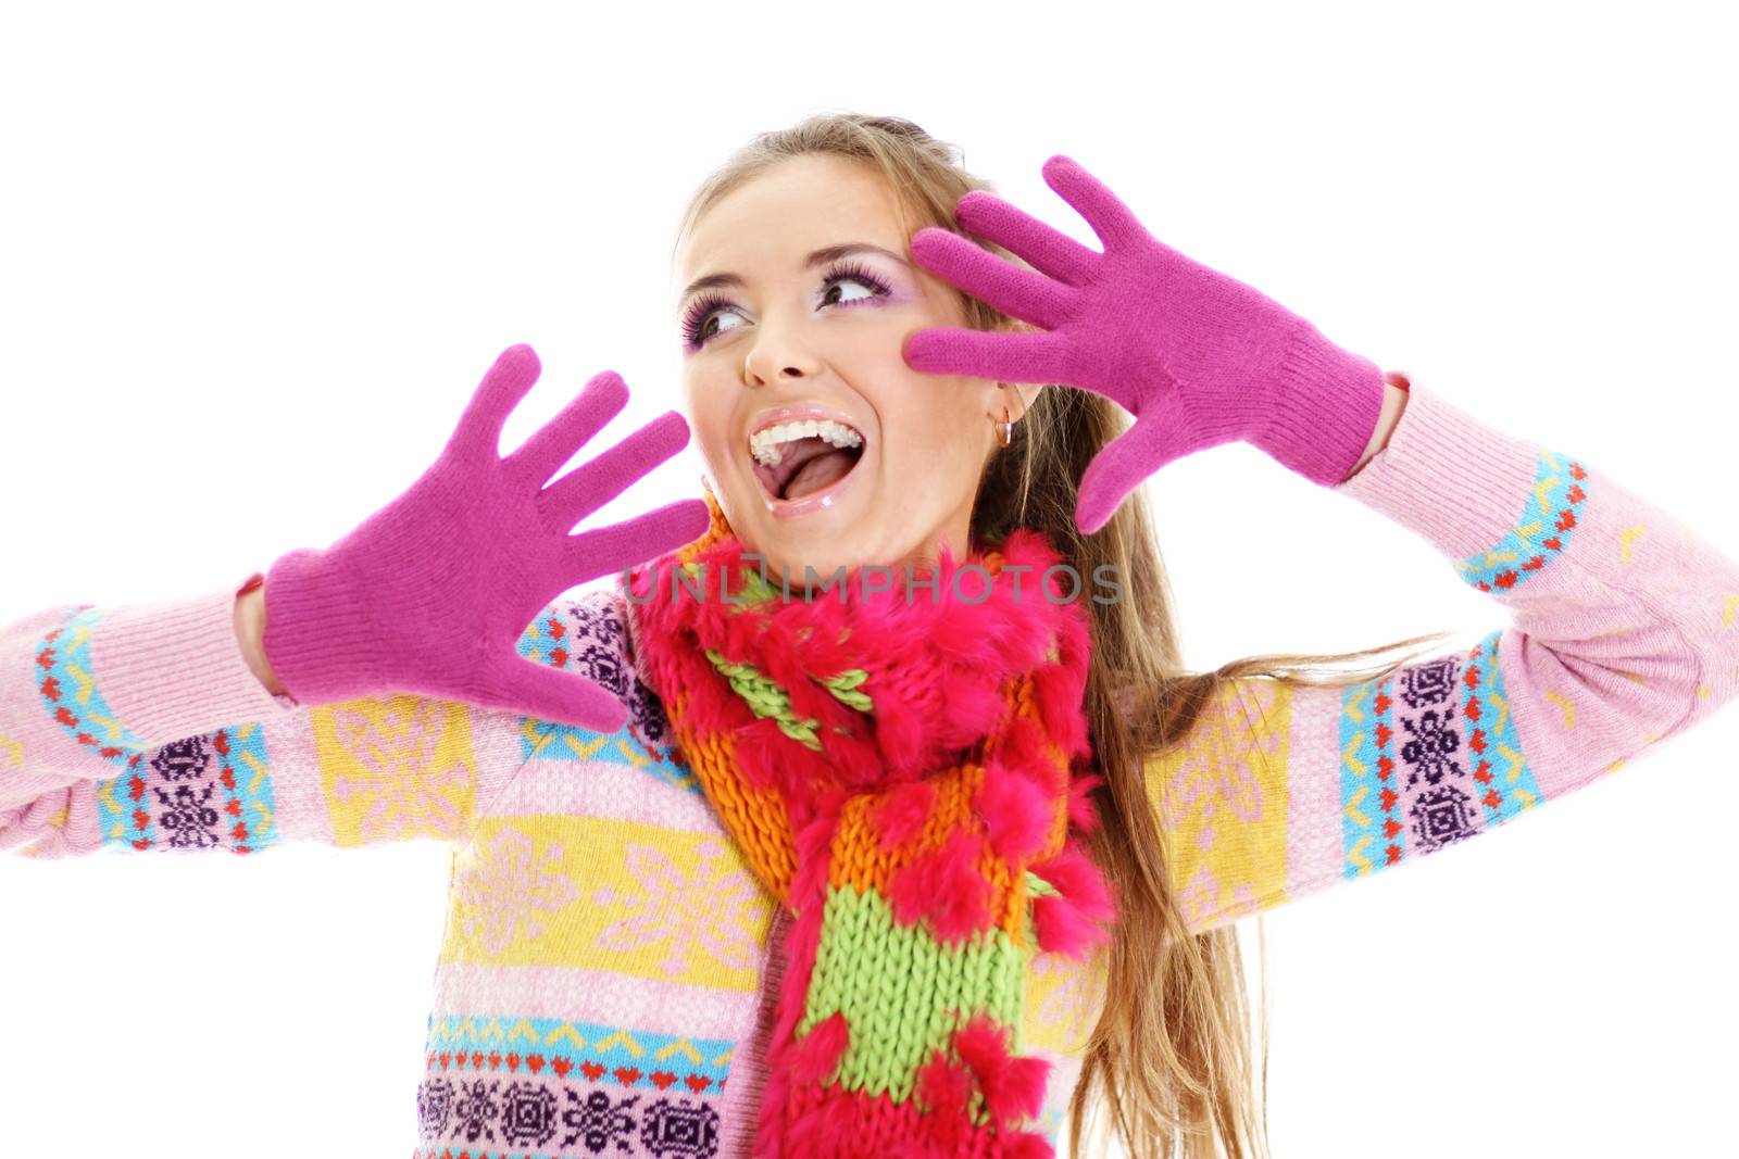
<instances>
[{"instance_id":1,"label":"woman's face with purple eye makeup and wide-open mouth","mask_svg":"<svg viewBox=\"0 0 1739 1159\"><path fill-rule=\"evenodd\" d=\"M906 365L911 334L967 318L958 290L911 264L880 170L779 162L701 217L676 273L689 427L776 582L781 568L795 589L805 566L923 566L944 542L965 554L993 422L1040 387ZM723 281L685 292L696 280ZM823 426L790 426L805 421Z\"/></svg>"}]
</instances>

